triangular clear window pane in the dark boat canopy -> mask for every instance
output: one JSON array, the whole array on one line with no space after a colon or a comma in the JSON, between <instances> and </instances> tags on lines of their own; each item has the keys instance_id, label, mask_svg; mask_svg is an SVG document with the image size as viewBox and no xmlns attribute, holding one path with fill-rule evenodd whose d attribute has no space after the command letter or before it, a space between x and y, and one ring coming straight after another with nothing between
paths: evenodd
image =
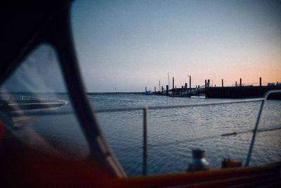
<instances>
[{"instance_id":1,"label":"triangular clear window pane in the dark boat canopy","mask_svg":"<svg viewBox=\"0 0 281 188\"><path fill-rule=\"evenodd\" d=\"M1 85L0 92L0 120L6 130L2 139L15 138L57 155L88 155L52 46L37 47Z\"/></svg>"}]
</instances>

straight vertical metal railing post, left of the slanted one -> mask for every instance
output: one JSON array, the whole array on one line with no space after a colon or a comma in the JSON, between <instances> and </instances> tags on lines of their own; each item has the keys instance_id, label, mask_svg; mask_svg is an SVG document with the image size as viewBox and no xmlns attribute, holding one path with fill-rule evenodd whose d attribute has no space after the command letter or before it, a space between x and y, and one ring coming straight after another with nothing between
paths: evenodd
<instances>
[{"instance_id":1,"label":"straight vertical metal railing post, left of the slanted one","mask_svg":"<svg viewBox=\"0 0 281 188\"><path fill-rule=\"evenodd\" d=\"M148 108L143 108L143 175L147 174L148 166Z\"/></svg>"}]
</instances>

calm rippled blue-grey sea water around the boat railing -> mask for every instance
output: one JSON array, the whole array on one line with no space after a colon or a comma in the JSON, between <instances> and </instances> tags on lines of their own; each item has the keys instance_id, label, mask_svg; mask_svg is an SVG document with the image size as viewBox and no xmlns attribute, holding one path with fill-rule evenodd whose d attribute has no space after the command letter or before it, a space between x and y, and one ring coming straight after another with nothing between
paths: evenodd
<instances>
[{"instance_id":1,"label":"calm rippled blue-grey sea water around the boat railing","mask_svg":"<svg viewBox=\"0 0 281 188\"><path fill-rule=\"evenodd\" d=\"M67 96L60 94L60 99ZM177 98L142 94L89 95L95 109L175 104L202 104L233 99ZM223 158L244 164L260 101L148 111L148 174L180 173L192 160L192 149L204 149L211 167L220 167ZM69 111L71 104L58 111ZM127 175L141 175L143 164L143 111L97 113L97 118L112 150ZM51 125L50 125L51 124ZM48 125L48 126L46 126ZM55 147L87 154L87 144L74 115L43 117L32 125ZM266 101L260 129L281 127L281 101ZM59 129L59 130L58 130ZM56 130L56 131L53 131ZM222 137L221 134L236 132ZM65 143L67 140L67 143ZM250 165L281 161L281 130L258 132Z\"/></svg>"}]
</instances>

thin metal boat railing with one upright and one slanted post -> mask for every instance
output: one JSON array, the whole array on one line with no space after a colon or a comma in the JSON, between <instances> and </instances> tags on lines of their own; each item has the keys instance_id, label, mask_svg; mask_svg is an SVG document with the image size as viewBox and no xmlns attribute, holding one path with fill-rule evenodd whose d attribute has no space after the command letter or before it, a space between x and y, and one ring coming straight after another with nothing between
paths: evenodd
<instances>
[{"instance_id":1,"label":"thin metal boat railing with one upright and one slanted post","mask_svg":"<svg viewBox=\"0 0 281 188\"><path fill-rule=\"evenodd\" d=\"M253 102L253 101L261 101L261 108L259 110L259 115L256 120L256 125L253 131L253 137L251 139L251 144L249 147L249 152L247 155L247 161L245 166L249 166L249 161L251 158L251 152L254 147L254 141L256 138L256 132L259 127L259 120L261 118L261 113L263 111L263 106L265 101L268 99L270 94L281 94L281 90L273 90L268 91L264 94L263 98L259 99L242 99L237 101L223 101L223 102L212 102L212 103L204 103L204 104L182 104L182 105L169 105L169 106L145 106L145 107L131 107L131 108L109 108L109 109L97 109L96 113L105 113L105 112L119 112L119 111L143 111L143 175L147 175L147 156L148 156L148 110L155 110L155 109L166 109L166 108L188 108L188 107L195 107L195 106L214 106L214 105L223 105L223 104L239 104L239 103L246 103L246 102Z\"/></svg>"}]
</instances>

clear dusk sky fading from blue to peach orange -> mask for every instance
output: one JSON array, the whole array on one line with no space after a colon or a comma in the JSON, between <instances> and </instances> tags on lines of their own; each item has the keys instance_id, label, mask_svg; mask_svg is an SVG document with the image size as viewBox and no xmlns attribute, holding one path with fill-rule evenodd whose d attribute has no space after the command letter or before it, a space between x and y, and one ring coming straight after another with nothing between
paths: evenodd
<instances>
[{"instance_id":1,"label":"clear dusk sky fading from blue to peach orange","mask_svg":"<svg viewBox=\"0 0 281 188\"><path fill-rule=\"evenodd\" d=\"M88 92L281 81L281 1L84 0L71 18Z\"/></svg>"}]
</instances>

